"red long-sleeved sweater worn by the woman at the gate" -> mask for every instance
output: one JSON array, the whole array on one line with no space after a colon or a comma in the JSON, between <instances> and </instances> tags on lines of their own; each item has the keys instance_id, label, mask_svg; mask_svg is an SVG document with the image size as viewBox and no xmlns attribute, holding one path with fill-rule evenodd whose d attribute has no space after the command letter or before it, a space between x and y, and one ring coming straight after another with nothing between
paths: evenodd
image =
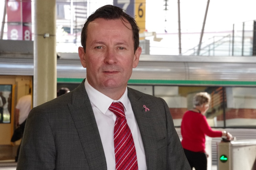
<instances>
[{"instance_id":1,"label":"red long-sleeved sweater worn by the woman at the gate","mask_svg":"<svg viewBox=\"0 0 256 170\"><path fill-rule=\"evenodd\" d=\"M205 135L221 137L222 131L214 131L208 125L206 116L186 111L181 121L182 147L194 152L205 152Z\"/></svg>"}]
</instances>

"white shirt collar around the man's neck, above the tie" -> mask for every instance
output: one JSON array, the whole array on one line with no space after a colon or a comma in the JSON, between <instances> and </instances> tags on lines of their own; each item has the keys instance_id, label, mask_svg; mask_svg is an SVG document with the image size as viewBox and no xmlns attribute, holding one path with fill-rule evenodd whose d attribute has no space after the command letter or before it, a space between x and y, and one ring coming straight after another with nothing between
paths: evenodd
<instances>
[{"instance_id":1,"label":"white shirt collar around the man's neck, above the tie","mask_svg":"<svg viewBox=\"0 0 256 170\"><path fill-rule=\"evenodd\" d=\"M104 95L103 93L101 93L98 90L96 90L95 88L93 88L89 84L87 79L85 79L84 86L85 86L86 92L88 94L88 97L89 97L91 103L93 103L103 114L106 113L106 111L108 110L108 108L112 102L117 102L117 101L120 101L121 103L123 103L124 112L127 110L126 108L128 106L128 101L129 101L129 98L127 95L127 93L128 93L127 87L125 89L124 94L121 96L120 99L113 100L110 97Z\"/></svg>"}]
</instances>

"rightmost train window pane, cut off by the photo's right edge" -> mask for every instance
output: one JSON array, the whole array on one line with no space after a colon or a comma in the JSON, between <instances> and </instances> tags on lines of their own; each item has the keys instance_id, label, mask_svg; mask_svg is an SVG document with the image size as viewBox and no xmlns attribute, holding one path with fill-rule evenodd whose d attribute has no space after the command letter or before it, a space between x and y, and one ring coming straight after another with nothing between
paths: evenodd
<instances>
[{"instance_id":1,"label":"rightmost train window pane, cut off by the photo's right edge","mask_svg":"<svg viewBox=\"0 0 256 170\"><path fill-rule=\"evenodd\" d=\"M255 127L256 88L230 87L226 89L226 127Z\"/></svg>"}]
</instances>

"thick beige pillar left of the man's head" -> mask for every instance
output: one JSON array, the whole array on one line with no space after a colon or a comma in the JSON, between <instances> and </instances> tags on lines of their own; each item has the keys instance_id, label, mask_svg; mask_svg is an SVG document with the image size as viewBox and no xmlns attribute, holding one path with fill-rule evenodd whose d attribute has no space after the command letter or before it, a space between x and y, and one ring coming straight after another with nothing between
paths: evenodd
<instances>
[{"instance_id":1,"label":"thick beige pillar left of the man's head","mask_svg":"<svg viewBox=\"0 0 256 170\"><path fill-rule=\"evenodd\" d=\"M56 98L56 0L35 0L33 107Z\"/></svg>"}]
</instances>

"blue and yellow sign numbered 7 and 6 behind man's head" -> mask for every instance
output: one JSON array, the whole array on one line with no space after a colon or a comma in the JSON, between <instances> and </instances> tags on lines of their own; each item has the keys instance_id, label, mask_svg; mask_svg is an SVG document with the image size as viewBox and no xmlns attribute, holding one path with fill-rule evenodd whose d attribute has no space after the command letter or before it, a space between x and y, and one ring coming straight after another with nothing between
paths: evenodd
<instances>
[{"instance_id":1,"label":"blue and yellow sign numbered 7 and 6 behind man's head","mask_svg":"<svg viewBox=\"0 0 256 170\"><path fill-rule=\"evenodd\" d=\"M136 16L140 32L145 31L146 0L114 0L113 5L124 9L131 17Z\"/></svg>"}]
</instances>

